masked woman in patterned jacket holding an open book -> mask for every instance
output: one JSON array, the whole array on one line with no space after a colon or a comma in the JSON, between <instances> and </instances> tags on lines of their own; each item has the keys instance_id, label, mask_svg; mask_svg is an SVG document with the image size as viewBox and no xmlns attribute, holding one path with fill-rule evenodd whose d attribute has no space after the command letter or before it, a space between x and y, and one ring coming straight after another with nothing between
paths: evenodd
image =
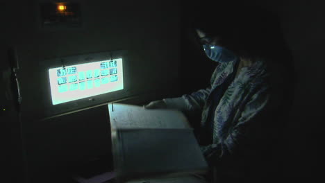
<instances>
[{"instance_id":1,"label":"masked woman in patterned jacket holding an open book","mask_svg":"<svg viewBox=\"0 0 325 183\"><path fill-rule=\"evenodd\" d=\"M190 21L201 49L218 63L210 85L144 107L201 113L197 139L210 166L208 181L274 176L278 157L272 150L281 139L277 122L287 110L288 67L282 60L289 57L274 17L254 8L221 7L205 8Z\"/></svg>"}]
</instances>

